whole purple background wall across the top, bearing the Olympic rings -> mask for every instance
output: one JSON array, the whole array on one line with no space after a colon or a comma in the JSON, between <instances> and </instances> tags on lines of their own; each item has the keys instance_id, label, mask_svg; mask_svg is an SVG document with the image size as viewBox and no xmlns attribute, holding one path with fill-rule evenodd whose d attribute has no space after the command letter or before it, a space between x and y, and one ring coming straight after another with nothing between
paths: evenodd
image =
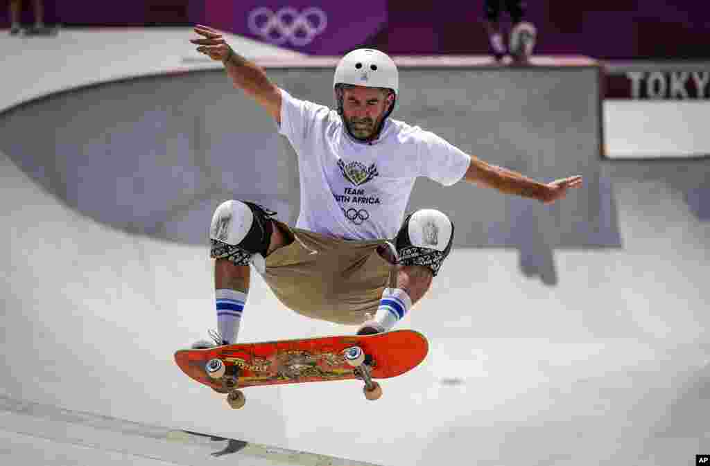
<instances>
[{"instance_id":1,"label":"whole purple background wall across the top, bearing the Olympic rings","mask_svg":"<svg viewBox=\"0 0 710 466\"><path fill-rule=\"evenodd\" d=\"M481 24L483 0L361 0L356 6L333 0L45 0L45 4L48 23L207 23L315 55L339 55L362 45L393 54L488 52ZM527 0L527 4L527 18L539 30L540 54L581 54L616 60L710 58L707 1L596 0L581 2L584 9L579 9L580 2L569 0ZM284 10L285 6L293 7L291 14ZM250 27L250 13L261 7L271 12L262 9L262 14L254 14ZM29 5L26 9L26 21L31 21ZM289 33L297 15L308 11L310 14L302 18L300 27ZM280 22L269 23L271 13L279 12ZM322 21L325 28L320 27ZM9 23L6 9L0 12L0 23Z\"/></svg>"}]
</instances>

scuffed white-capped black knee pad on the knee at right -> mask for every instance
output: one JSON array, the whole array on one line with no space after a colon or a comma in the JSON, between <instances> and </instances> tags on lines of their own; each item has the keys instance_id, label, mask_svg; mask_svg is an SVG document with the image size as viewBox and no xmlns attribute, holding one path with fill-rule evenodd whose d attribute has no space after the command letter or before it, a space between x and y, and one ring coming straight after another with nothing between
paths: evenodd
<instances>
[{"instance_id":1,"label":"scuffed white-capped black knee pad on the knee at right","mask_svg":"<svg viewBox=\"0 0 710 466\"><path fill-rule=\"evenodd\" d=\"M399 265L423 265L436 277L451 253L454 223L439 211L422 209L405 218L395 238Z\"/></svg>"}]
</instances>

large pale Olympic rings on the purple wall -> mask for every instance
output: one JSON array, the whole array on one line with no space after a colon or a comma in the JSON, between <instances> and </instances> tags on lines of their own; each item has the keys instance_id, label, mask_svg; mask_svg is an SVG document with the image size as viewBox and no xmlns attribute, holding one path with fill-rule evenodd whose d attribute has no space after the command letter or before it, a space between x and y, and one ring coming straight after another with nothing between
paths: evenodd
<instances>
[{"instance_id":1,"label":"large pale Olympic rings on the purple wall","mask_svg":"<svg viewBox=\"0 0 710 466\"><path fill-rule=\"evenodd\" d=\"M287 42L297 47L308 45L327 26L328 15L317 6L300 13L293 6L285 6L276 12L261 6L249 12L249 30L275 45Z\"/></svg>"}]
</instances>

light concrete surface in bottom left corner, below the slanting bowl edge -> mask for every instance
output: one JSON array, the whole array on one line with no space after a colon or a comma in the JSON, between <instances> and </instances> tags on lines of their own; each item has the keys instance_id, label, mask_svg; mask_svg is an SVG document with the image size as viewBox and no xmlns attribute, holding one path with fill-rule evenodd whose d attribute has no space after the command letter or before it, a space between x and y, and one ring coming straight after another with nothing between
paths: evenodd
<instances>
[{"instance_id":1,"label":"light concrete surface in bottom left corner, below the slanting bowl edge","mask_svg":"<svg viewBox=\"0 0 710 466\"><path fill-rule=\"evenodd\" d=\"M0 397L0 445L23 464L374 466Z\"/></svg>"}]
</instances>

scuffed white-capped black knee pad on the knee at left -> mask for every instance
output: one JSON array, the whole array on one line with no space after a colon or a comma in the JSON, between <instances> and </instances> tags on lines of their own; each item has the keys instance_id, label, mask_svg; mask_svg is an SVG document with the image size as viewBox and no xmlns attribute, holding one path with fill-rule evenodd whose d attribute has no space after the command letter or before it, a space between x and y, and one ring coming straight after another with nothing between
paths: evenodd
<instances>
[{"instance_id":1,"label":"scuffed white-capped black knee pad on the knee at left","mask_svg":"<svg viewBox=\"0 0 710 466\"><path fill-rule=\"evenodd\" d=\"M244 205L249 207L251 218ZM251 257L261 254L266 257L271 244L276 212L249 201L226 201L217 207L210 227L209 257L226 259L235 265L249 265ZM251 225L245 224L251 221ZM235 232L236 229L241 229Z\"/></svg>"}]
</instances>

